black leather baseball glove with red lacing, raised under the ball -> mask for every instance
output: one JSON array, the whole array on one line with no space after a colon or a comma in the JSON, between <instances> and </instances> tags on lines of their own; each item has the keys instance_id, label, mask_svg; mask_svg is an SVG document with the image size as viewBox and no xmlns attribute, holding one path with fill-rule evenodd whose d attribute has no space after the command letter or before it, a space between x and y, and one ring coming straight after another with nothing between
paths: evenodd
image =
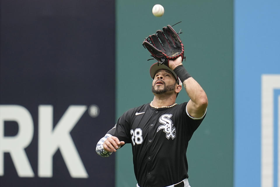
<instances>
[{"instance_id":1,"label":"black leather baseball glove with red lacing, raised under the ball","mask_svg":"<svg viewBox=\"0 0 280 187\"><path fill-rule=\"evenodd\" d=\"M148 49L152 57L160 64L169 67L169 59L175 59L179 56L184 58L184 45L170 26L163 27L162 31L157 30L156 34L152 34L143 41L143 46Z\"/></svg>"}]
</instances>

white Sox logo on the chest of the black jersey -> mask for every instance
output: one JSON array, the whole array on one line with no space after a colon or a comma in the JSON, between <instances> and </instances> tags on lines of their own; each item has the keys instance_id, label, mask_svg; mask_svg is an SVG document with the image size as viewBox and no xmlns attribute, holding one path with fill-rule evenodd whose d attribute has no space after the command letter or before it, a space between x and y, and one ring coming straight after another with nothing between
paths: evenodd
<instances>
[{"instance_id":1,"label":"white Sox logo on the chest of the black jersey","mask_svg":"<svg viewBox=\"0 0 280 187\"><path fill-rule=\"evenodd\" d=\"M160 116L159 122L164 125L159 126L157 128L157 132L160 129L163 129L163 132L166 133L166 138L169 139L171 137L173 140L175 138L176 128L173 127L173 123L170 120L171 116L172 116L172 114L164 114L164 115Z\"/></svg>"}]
</instances>

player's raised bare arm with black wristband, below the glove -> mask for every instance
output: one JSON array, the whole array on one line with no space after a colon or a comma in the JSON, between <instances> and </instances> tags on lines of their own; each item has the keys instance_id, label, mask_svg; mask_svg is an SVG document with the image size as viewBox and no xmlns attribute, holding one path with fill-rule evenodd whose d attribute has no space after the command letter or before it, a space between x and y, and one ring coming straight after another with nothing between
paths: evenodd
<instances>
[{"instance_id":1,"label":"player's raised bare arm with black wristband, below the glove","mask_svg":"<svg viewBox=\"0 0 280 187\"><path fill-rule=\"evenodd\" d=\"M169 60L169 67L180 78L188 96L190 97L190 101L187 105L188 114L193 118L202 117L205 114L208 105L206 93L196 80L187 72L182 64L181 56L175 60Z\"/></svg>"}]
</instances>

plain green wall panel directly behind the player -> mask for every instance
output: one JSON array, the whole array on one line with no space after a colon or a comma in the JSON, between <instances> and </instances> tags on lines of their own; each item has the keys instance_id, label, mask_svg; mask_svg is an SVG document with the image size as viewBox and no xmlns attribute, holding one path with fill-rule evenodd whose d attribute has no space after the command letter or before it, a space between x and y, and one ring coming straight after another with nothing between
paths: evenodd
<instances>
[{"instance_id":1,"label":"plain green wall panel directly behind the player","mask_svg":"<svg viewBox=\"0 0 280 187\"><path fill-rule=\"evenodd\" d=\"M155 4L164 15L153 16ZM149 75L153 60L145 37L173 25L184 43L183 63L205 90L207 115L187 150L189 182L195 186L232 186L233 178L233 2L232 0L116 1L116 117L153 100ZM188 101L181 91L177 103ZM116 118L116 120L117 120ZM172 162L172 161L171 161ZM136 186L131 145L116 153L116 187Z\"/></svg>"}]
</instances>

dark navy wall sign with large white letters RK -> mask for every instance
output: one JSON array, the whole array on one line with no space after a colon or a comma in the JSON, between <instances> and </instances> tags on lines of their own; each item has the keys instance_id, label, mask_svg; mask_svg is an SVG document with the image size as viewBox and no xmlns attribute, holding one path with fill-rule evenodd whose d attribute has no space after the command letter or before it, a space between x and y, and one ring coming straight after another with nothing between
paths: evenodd
<instances>
[{"instance_id":1,"label":"dark navy wall sign with large white letters RK","mask_svg":"<svg viewBox=\"0 0 280 187\"><path fill-rule=\"evenodd\" d=\"M0 52L0 186L114 186L115 1L2 0Z\"/></svg>"}]
</instances>

